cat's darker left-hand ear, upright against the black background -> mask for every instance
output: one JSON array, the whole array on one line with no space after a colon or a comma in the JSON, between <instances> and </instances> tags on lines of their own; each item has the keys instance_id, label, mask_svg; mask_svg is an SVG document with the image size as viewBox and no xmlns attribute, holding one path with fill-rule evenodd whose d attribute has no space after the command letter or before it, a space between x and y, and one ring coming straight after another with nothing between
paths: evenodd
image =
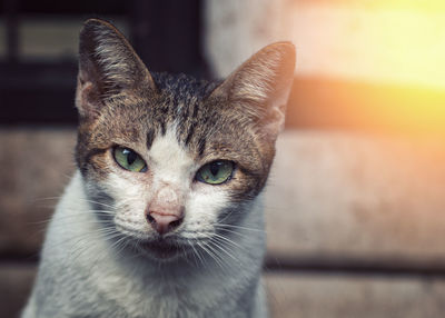
<instances>
[{"instance_id":1,"label":"cat's darker left-hand ear, upright against the black background","mask_svg":"<svg viewBox=\"0 0 445 318\"><path fill-rule=\"evenodd\" d=\"M107 98L138 89L156 87L130 43L112 24L87 20L79 39L76 106L80 117L97 118Z\"/></svg>"}]
</instances>

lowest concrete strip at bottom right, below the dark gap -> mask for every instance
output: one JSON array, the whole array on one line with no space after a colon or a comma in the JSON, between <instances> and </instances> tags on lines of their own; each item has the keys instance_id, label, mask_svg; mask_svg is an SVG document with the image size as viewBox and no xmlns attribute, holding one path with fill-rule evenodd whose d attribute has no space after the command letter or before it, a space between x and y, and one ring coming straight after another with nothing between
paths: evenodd
<instances>
[{"instance_id":1,"label":"lowest concrete strip at bottom right, below the dark gap","mask_svg":"<svg viewBox=\"0 0 445 318\"><path fill-rule=\"evenodd\" d=\"M275 318L441 318L445 280L403 277L266 275Z\"/></svg>"}]
</instances>

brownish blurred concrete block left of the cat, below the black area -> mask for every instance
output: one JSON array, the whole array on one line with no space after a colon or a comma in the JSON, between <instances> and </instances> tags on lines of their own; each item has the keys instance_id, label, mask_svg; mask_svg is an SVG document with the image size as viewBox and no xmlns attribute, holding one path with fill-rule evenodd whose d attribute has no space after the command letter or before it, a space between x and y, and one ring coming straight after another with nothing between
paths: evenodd
<instances>
[{"instance_id":1,"label":"brownish blurred concrete block left of the cat, below the black area","mask_svg":"<svg viewBox=\"0 0 445 318\"><path fill-rule=\"evenodd\" d=\"M73 171L72 129L0 130L0 255L36 256Z\"/></svg>"}]
</instances>

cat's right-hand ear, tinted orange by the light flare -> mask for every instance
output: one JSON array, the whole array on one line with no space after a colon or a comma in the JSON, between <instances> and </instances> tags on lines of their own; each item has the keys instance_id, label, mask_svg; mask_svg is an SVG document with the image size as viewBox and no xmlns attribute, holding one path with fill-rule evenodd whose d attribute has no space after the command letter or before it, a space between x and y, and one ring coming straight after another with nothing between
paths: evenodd
<instances>
[{"instance_id":1,"label":"cat's right-hand ear, tinted orange by the light flare","mask_svg":"<svg viewBox=\"0 0 445 318\"><path fill-rule=\"evenodd\" d=\"M295 69L295 47L277 42L265 47L216 88L212 97L222 97L239 107L276 138L284 128L286 103Z\"/></svg>"}]
</instances>

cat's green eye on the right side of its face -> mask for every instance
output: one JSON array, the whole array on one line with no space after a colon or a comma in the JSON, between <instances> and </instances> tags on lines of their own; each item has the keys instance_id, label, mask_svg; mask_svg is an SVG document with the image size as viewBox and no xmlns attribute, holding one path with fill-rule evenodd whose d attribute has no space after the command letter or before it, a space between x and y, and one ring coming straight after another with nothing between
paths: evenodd
<instances>
[{"instance_id":1,"label":"cat's green eye on the right side of its face","mask_svg":"<svg viewBox=\"0 0 445 318\"><path fill-rule=\"evenodd\" d=\"M234 172L234 162L228 160L217 160L202 166L196 179L209 185L220 185L230 179Z\"/></svg>"}]
</instances>

